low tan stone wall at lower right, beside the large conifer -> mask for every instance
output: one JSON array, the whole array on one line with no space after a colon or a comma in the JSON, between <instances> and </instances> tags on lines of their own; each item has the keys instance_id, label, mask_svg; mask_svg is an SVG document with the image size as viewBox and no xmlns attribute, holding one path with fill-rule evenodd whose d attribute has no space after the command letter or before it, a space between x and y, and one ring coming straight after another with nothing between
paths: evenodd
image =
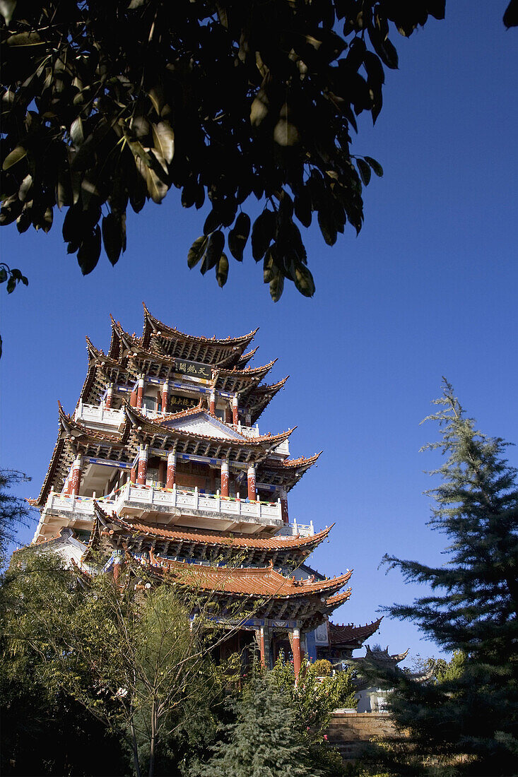
<instances>
[{"instance_id":1,"label":"low tan stone wall at lower right, beside the large conifer","mask_svg":"<svg viewBox=\"0 0 518 777\"><path fill-rule=\"evenodd\" d=\"M373 737L394 737L396 730L388 713L334 713L327 730L329 744L346 760L359 758Z\"/></svg>"}]
</instances>

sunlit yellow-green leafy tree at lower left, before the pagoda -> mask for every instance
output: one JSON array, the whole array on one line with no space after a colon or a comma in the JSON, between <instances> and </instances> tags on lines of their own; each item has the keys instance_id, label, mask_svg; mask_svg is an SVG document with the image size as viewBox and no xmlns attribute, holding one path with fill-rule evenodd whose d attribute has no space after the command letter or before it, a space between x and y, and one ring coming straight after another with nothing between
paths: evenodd
<instances>
[{"instance_id":1,"label":"sunlit yellow-green leafy tree at lower left, before the pagoda","mask_svg":"<svg viewBox=\"0 0 518 777\"><path fill-rule=\"evenodd\" d=\"M40 681L122 734L137 777L144 767L152 777L171 745L166 771L183 756L174 737L187 714L214 725L212 705L231 678L210 660L219 635L195 591L135 586L129 574L119 585L103 574L78 580L52 554L28 550L16 554L4 604L5 650L39 656Z\"/></svg>"}]
</instances>

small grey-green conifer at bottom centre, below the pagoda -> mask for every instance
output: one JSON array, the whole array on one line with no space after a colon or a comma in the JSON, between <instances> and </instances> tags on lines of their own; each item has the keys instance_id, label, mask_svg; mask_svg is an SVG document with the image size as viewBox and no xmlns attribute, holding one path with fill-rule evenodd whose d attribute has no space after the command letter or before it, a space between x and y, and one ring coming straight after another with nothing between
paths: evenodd
<instances>
[{"instance_id":1,"label":"small grey-green conifer at bottom centre, below the pagoda","mask_svg":"<svg viewBox=\"0 0 518 777\"><path fill-rule=\"evenodd\" d=\"M307 753L289 700L268 678L256 674L235 704L236 722L225 726L226 741L212 750L191 777L317 777L306 768Z\"/></svg>"}]
</instances>

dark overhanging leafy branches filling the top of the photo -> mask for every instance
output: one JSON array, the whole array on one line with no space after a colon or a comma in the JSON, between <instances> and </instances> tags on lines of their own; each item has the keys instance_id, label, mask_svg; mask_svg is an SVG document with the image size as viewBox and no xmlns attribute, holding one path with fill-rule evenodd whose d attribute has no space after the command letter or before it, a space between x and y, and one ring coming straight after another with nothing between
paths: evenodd
<instances>
[{"instance_id":1,"label":"dark overhanging leafy branches filling the top of the photo","mask_svg":"<svg viewBox=\"0 0 518 777\"><path fill-rule=\"evenodd\" d=\"M2 0L2 212L19 232L63 236L83 274L126 247L128 204L211 211L189 267L215 270L251 242L272 298L285 278L311 296L299 225L332 246L359 232L362 185L383 175L351 155L362 111L380 113L390 30L409 36L445 0ZM391 27L392 23L392 27ZM250 223L241 206L264 206ZM297 222L299 225L297 225Z\"/></svg>"}]
</instances>

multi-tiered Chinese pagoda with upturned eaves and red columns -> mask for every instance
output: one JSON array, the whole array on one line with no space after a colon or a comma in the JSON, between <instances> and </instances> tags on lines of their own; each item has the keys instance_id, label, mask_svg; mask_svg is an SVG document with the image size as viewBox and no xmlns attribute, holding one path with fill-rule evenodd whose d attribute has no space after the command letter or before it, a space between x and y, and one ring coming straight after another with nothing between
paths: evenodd
<instances>
[{"instance_id":1,"label":"multi-tiered Chinese pagoda with upturned eaves and red columns","mask_svg":"<svg viewBox=\"0 0 518 777\"><path fill-rule=\"evenodd\" d=\"M221 613L243 605L250 617L222 652L257 643L271 665L282 650L298 674L304 653L350 656L380 621L329 623L351 595L352 572L328 579L306 564L331 527L290 520L288 494L320 454L290 458L294 429L260 432L287 378L265 382L275 361L249 366L256 333L191 336L144 305L141 336L112 318L106 354L86 338L79 401L72 414L58 404L58 439L30 500L40 509L33 542L85 571L108 543L104 570L115 579L131 559L206 591Z\"/></svg>"}]
</instances>

